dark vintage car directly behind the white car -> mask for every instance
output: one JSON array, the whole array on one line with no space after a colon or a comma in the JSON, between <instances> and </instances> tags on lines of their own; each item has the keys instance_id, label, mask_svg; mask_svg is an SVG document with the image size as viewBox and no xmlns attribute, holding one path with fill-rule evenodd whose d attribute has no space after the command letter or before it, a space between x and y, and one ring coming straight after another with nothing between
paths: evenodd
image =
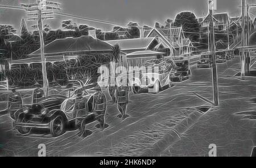
<instances>
[{"instance_id":1,"label":"dark vintage car directly behind the white car","mask_svg":"<svg viewBox=\"0 0 256 168\"><path fill-rule=\"evenodd\" d=\"M183 82L191 78L191 70L189 69L189 61L184 60L176 63L176 68L170 75L171 82Z\"/></svg>"}]
</instances>

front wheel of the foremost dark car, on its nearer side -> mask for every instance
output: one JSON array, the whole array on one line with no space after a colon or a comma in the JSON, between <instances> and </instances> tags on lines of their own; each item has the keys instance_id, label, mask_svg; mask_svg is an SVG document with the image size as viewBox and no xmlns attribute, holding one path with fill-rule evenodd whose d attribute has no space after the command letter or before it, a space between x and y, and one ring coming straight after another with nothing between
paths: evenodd
<instances>
[{"instance_id":1,"label":"front wheel of the foremost dark car, on its nearer side","mask_svg":"<svg viewBox=\"0 0 256 168\"><path fill-rule=\"evenodd\" d=\"M61 115L57 115L50 122L51 135L54 137L63 135L64 131L64 119Z\"/></svg>"}]
</instances>

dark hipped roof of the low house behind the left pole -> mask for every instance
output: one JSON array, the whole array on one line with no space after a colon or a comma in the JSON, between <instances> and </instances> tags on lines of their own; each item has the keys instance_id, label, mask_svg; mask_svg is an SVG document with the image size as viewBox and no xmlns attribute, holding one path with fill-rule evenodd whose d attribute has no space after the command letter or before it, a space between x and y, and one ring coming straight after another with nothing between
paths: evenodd
<instances>
[{"instance_id":1,"label":"dark hipped roof of the low house behind the left pole","mask_svg":"<svg viewBox=\"0 0 256 168\"><path fill-rule=\"evenodd\" d=\"M91 36L68 37L57 39L44 47L46 54L60 54L81 51L112 51L112 45L105 41L94 39ZM30 56L39 55L40 49L30 54Z\"/></svg>"}]
</instances>

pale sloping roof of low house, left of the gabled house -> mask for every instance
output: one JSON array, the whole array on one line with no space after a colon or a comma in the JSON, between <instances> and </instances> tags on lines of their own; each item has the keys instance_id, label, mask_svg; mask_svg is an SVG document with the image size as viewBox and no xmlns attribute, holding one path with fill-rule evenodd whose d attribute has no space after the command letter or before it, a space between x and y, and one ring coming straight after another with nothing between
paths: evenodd
<instances>
[{"instance_id":1,"label":"pale sloping roof of low house, left of the gabled house","mask_svg":"<svg viewBox=\"0 0 256 168\"><path fill-rule=\"evenodd\" d=\"M140 39L110 40L110 41L106 41L106 43L109 43L110 45L118 44L121 50L138 49L138 48L147 49L148 45L150 45L154 39L155 37L140 38Z\"/></svg>"}]
</instances>

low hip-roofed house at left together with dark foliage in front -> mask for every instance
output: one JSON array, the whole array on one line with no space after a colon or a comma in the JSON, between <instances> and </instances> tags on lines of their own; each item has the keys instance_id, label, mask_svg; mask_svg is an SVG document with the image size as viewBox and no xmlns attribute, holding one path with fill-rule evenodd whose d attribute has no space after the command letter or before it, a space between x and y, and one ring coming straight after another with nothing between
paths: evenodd
<instances>
[{"instance_id":1,"label":"low hip-roofed house at left together with dark foliage in front","mask_svg":"<svg viewBox=\"0 0 256 168\"><path fill-rule=\"evenodd\" d=\"M91 36L68 37L57 39L44 47L46 57L47 79L49 86L65 86L70 80L97 77L101 65L113 61L114 47L105 41ZM127 66L126 54L119 52L119 66ZM42 85L41 51L28 55L22 60L9 62L13 75L9 75L11 86Z\"/></svg>"}]
</instances>

